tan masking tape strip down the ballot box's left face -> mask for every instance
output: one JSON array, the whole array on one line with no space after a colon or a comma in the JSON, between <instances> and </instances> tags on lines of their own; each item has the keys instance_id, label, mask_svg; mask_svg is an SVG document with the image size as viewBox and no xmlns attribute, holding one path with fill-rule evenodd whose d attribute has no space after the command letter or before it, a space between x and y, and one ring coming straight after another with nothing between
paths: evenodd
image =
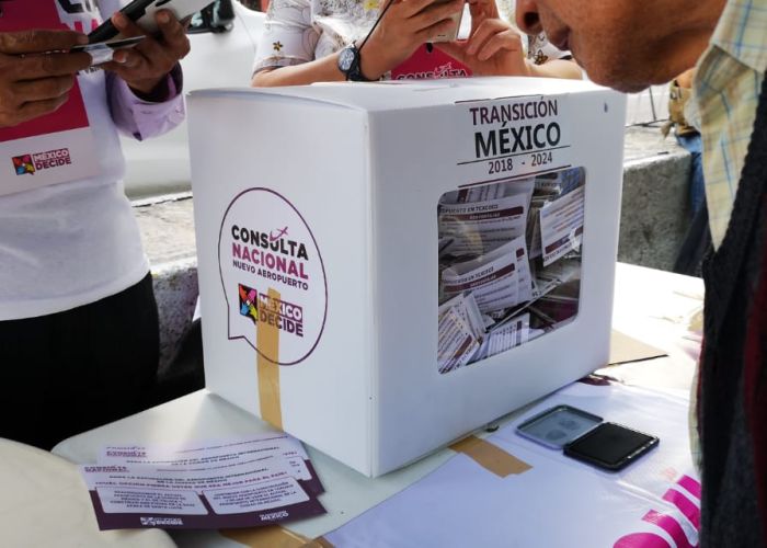
<instances>
[{"instance_id":1,"label":"tan masking tape strip down the ballot box's left face","mask_svg":"<svg viewBox=\"0 0 767 548\"><path fill-rule=\"evenodd\" d=\"M272 302L279 300L279 292L268 290ZM259 312L260 313L260 312ZM259 318L256 328L256 341L259 350L256 369L259 374L259 401L261 403L261 418L272 426L283 430L283 408L279 401L279 329L270 322ZM272 356L274 362L264 356Z\"/></svg>"}]
</instances>

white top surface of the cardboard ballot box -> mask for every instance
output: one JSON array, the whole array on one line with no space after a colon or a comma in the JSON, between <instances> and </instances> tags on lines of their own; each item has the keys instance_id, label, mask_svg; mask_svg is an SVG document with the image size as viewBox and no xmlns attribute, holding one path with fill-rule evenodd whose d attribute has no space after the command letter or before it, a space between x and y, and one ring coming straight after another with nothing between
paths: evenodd
<instances>
[{"instance_id":1,"label":"white top surface of the cardboard ballot box","mask_svg":"<svg viewBox=\"0 0 767 548\"><path fill-rule=\"evenodd\" d=\"M492 101L511 96L540 96L604 90L605 88L584 80L493 77L370 83L322 82L312 85L260 89L211 89L193 91L191 96L273 95L376 112L424 109L483 99Z\"/></svg>"}]
</instances>

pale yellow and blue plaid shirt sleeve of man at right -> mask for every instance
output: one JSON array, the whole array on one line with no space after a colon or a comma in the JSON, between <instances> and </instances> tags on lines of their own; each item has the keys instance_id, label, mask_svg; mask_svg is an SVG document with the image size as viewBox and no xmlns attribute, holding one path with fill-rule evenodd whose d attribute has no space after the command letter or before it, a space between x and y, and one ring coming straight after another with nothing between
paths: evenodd
<instances>
[{"instance_id":1,"label":"pale yellow and blue plaid shirt sleeve of man at right","mask_svg":"<svg viewBox=\"0 0 767 548\"><path fill-rule=\"evenodd\" d=\"M765 70L767 0L728 1L698 62L694 82L697 113L691 118L702 135L714 248L722 242L730 221Z\"/></svg>"}]
</instances>

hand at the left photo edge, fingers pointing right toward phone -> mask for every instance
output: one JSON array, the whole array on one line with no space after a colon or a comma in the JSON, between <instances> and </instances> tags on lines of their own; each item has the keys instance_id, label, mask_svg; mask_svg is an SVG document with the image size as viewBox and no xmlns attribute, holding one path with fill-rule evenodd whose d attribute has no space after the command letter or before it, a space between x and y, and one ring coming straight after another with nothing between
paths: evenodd
<instances>
[{"instance_id":1,"label":"hand at the left photo edge, fingers pointing right toward phone","mask_svg":"<svg viewBox=\"0 0 767 548\"><path fill-rule=\"evenodd\" d=\"M0 33L0 127L34 119L66 103L77 72L91 64L90 55L67 52L87 43L84 34L71 31Z\"/></svg>"}]
</instances>

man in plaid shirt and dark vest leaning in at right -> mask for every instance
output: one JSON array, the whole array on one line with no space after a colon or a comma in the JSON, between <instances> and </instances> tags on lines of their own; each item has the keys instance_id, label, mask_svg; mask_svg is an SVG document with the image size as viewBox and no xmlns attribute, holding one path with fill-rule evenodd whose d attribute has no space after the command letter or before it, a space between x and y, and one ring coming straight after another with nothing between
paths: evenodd
<instances>
[{"instance_id":1,"label":"man in plaid shirt and dark vest leaning in at right","mask_svg":"<svg viewBox=\"0 0 767 548\"><path fill-rule=\"evenodd\" d=\"M588 77L622 91L696 67L712 249L696 384L700 546L767 541L767 0L519 0ZM697 441L697 439L696 439Z\"/></svg>"}]
</instances>

